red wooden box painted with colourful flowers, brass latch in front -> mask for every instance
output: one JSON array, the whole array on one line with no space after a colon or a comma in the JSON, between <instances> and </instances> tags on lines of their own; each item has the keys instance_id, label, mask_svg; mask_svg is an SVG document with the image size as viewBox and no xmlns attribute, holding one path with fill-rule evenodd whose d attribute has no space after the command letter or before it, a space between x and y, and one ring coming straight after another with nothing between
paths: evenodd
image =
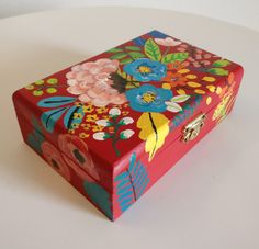
<instances>
[{"instance_id":1,"label":"red wooden box painted with colourful flowers, brass latch in front","mask_svg":"<svg viewBox=\"0 0 259 249\"><path fill-rule=\"evenodd\" d=\"M151 31L13 94L25 143L117 218L230 112L241 66Z\"/></svg>"}]
</instances>

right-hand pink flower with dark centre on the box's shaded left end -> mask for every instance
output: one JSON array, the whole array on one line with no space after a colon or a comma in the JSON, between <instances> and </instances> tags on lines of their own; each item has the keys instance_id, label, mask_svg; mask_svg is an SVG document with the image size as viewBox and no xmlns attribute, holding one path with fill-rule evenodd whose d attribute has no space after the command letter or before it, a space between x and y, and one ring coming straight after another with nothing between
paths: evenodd
<instances>
[{"instance_id":1,"label":"right-hand pink flower with dark centre on the box's shaded left end","mask_svg":"<svg viewBox=\"0 0 259 249\"><path fill-rule=\"evenodd\" d=\"M79 177L83 178L83 172L81 170L85 170L95 180L100 179L92 161L91 155L88 150L88 146L82 139L69 134L63 134L58 137L58 146L60 150L69 158L68 159L64 157L66 162L71 168L74 168L78 174L80 174ZM81 170L78 170L79 167Z\"/></svg>"}]
</instances>

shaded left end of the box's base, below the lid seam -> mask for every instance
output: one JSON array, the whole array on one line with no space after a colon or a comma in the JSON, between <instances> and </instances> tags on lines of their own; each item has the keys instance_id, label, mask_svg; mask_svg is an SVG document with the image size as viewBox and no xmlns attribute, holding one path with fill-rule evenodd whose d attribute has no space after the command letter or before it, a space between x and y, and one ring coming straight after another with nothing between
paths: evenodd
<instances>
[{"instance_id":1,"label":"shaded left end of the box's base, below the lid seam","mask_svg":"<svg viewBox=\"0 0 259 249\"><path fill-rule=\"evenodd\" d=\"M41 132L18 115L24 142L56 172L87 197L99 211L113 220L112 195L93 178L49 143ZM37 121L34 121L37 122Z\"/></svg>"}]
</instances>

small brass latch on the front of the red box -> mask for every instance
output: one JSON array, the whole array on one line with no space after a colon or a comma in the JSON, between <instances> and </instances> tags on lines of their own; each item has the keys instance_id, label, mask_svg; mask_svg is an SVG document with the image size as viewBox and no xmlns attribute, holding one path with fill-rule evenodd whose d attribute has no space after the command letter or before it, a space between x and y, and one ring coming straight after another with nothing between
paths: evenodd
<instances>
[{"instance_id":1,"label":"small brass latch on the front of the red box","mask_svg":"<svg viewBox=\"0 0 259 249\"><path fill-rule=\"evenodd\" d=\"M182 140L185 143L193 140L201 132L201 128L204 126L205 118L206 115L202 113L192 122L190 122L183 129Z\"/></svg>"}]
</instances>

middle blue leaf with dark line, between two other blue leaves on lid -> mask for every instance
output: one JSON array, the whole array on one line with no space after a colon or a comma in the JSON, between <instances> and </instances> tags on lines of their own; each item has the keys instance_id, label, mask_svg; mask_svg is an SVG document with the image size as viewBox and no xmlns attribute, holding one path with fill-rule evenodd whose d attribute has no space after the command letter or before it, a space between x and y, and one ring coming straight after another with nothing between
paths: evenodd
<instances>
[{"instance_id":1,"label":"middle blue leaf with dark line, between two other blue leaves on lid","mask_svg":"<svg viewBox=\"0 0 259 249\"><path fill-rule=\"evenodd\" d=\"M53 133L56 122L60 118L60 116L66 112L67 109L68 107L60 107L44 112L41 116L43 126L49 133Z\"/></svg>"}]
</instances>

